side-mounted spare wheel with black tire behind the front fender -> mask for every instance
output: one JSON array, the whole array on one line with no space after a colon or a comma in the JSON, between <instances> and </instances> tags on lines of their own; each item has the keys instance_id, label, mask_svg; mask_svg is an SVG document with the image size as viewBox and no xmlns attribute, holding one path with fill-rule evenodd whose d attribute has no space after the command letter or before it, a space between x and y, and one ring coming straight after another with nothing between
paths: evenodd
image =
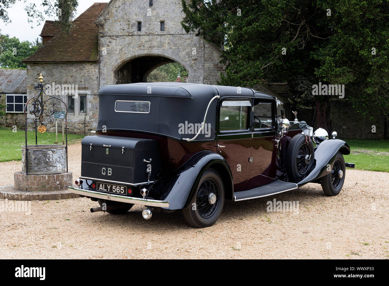
<instances>
[{"instance_id":1,"label":"side-mounted spare wheel with black tire behind the front fender","mask_svg":"<svg viewBox=\"0 0 389 286\"><path fill-rule=\"evenodd\" d=\"M308 143L307 143L308 142ZM310 155L310 159L305 159ZM286 171L292 180L300 180L311 169L315 160L314 145L304 134L297 134L292 138L286 151Z\"/></svg>"}]
</instances>

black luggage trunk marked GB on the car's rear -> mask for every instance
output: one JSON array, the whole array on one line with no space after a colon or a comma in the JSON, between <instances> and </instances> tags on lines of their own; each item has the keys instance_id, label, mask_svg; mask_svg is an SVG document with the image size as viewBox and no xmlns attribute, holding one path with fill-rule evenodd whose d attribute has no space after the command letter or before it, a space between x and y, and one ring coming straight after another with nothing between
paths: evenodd
<instances>
[{"instance_id":1,"label":"black luggage trunk marked GB on the car's rear","mask_svg":"<svg viewBox=\"0 0 389 286\"><path fill-rule=\"evenodd\" d=\"M150 159L150 163L145 162ZM153 181L160 169L157 140L107 135L86 136L82 140L82 177L139 184Z\"/></svg>"}]
</instances>

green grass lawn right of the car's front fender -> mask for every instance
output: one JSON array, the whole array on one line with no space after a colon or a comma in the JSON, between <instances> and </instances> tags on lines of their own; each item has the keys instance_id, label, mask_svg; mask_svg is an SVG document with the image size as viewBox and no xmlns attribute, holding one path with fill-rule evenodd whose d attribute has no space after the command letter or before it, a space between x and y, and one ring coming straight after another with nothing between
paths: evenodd
<instances>
[{"instance_id":1,"label":"green grass lawn right of the car's front fender","mask_svg":"<svg viewBox=\"0 0 389 286\"><path fill-rule=\"evenodd\" d=\"M348 163L355 163L358 170L389 172L388 140L345 140L351 154L344 156Z\"/></svg>"}]
</instances>

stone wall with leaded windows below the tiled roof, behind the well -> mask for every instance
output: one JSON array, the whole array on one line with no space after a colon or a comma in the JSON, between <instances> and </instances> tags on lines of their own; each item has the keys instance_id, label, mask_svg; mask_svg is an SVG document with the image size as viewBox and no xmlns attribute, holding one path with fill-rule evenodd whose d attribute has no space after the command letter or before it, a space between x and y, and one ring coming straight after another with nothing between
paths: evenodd
<instances>
[{"instance_id":1,"label":"stone wall with leaded windows below the tiled roof, behind the well","mask_svg":"<svg viewBox=\"0 0 389 286\"><path fill-rule=\"evenodd\" d=\"M68 133L84 134L84 118L86 133L95 130L98 118L98 63L33 63L27 64L27 98L30 99L39 93L34 88L38 82L39 74L42 73L44 82L52 84L48 94L61 98L67 105L68 95L74 97L74 113L68 113ZM71 86L69 86L71 85ZM71 88L70 88L71 87ZM77 92L74 92L77 91ZM76 94L74 94L76 93ZM87 99L86 117L80 113L79 97L85 95ZM63 106L60 108L64 110ZM35 128L32 123L32 115L28 115L28 129ZM61 121L58 120L58 129L61 130ZM45 120L47 131L55 132L55 124L49 124Z\"/></svg>"}]
</instances>

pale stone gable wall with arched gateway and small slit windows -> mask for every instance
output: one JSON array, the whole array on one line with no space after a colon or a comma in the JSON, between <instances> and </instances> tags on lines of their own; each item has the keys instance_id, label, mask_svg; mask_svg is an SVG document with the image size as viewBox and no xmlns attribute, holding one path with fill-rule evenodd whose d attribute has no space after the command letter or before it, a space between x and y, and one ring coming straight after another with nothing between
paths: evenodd
<instances>
[{"instance_id":1,"label":"pale stone gable wall with arched gateway and small slit windows","mask_svg":"<svg viewBox=\"0 0 389 286\"><path fill-rule=\"evenodd\" d=\"M180 0L154 1L152 7L149 1L110 1L96 20L100 39L100 87L116 84L121 66L149 56L172 59L187 70L188 82L203 83L204 43L195 33L184 31L180 23L183 17ZM160 31L161 21L165 22L165 31ZM142 22L140 32L138 22ZM210 65L219 64L219 60L211 59ZM208 82L211 80L207 79Z\"/></svg>"}]
</instances>

